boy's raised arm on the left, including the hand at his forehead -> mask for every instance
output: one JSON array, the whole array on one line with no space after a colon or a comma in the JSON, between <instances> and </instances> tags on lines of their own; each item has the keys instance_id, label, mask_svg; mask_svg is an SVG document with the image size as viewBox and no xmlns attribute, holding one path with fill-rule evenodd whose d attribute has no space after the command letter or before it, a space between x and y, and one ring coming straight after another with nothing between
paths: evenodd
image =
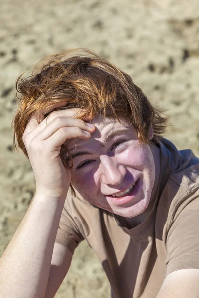
<instances>
[{"instance_id":1,"label":"boy's raised arm on the left, including the hand at his forehead","mask_svg":"<svg viewBox=\"0 0 199 298\"><path fill-rule=\"evenodd\" d=\"M36 194L0 258L0 296L3 298L45 297L55 238L71 182L71 171L60 158L61 145L70 138L89 139L95 130L75 118L77 109L54 111L47 118L44 114L45 111L40 111L39 120L35 113L23 133ZM64 264L69 266L70 261L71 254L65 252ZM63 266L59 268L60 282L67 270ZM53 271L52 265L50 279L54 284ZM50 285L53 291L59 282L55 279L55 284Z\"/></svg>"}]
</instances>

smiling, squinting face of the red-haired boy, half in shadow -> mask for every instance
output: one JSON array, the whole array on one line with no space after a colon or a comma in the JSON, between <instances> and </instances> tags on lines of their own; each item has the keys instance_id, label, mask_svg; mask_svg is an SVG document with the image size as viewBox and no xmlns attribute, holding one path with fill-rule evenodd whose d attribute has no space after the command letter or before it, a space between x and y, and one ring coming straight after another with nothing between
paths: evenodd
<instances>
[{"instance_id":1,"label":"smiling, squinting face of the red-haired boy, half in shadow","mask_svg":"<svg viewBox=\"0 0 199 298\"><path fill-rule=\"evenodd\" d=\"M156 180L152 145L139 144L127 119L98 116L89 140L70 139L73 156L71 183L91 204L132 218L143 213ZM153 145L154 146L154 145Z\"/></svg>"}]
</instances>

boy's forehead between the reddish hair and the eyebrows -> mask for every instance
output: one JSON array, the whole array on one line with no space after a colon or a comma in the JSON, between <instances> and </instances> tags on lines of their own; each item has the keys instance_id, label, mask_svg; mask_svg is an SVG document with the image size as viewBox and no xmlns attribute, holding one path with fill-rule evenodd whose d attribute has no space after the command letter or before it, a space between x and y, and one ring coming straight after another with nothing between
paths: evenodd
<instances>
[{"instance_id":1,"label":"boy's forehead between the reddish hair and the eyebrows","mask_svg":"<svg viewBox=\"0 0 199 298\"><path fill-rule=\"evenodd\" d=\"M86 121L95 125L96 129L91 134L90 139L82 140L79 138L69 139L67 141L68 149L74 149L77 147L91 147L95 140L103 141L108 134L111 134L117 130L128 129L135 131L130 121L126 118L120 119L121 123L116 118L108 118L103 116L97 116L91 121Z\"/></svg>"}]
</instances>

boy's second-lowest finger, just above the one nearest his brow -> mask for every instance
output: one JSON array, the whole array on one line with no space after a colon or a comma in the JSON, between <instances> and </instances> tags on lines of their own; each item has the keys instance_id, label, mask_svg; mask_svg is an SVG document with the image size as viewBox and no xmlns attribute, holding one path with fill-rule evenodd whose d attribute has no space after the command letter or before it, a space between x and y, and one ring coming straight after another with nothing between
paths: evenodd
<instances>
[{"instance_id":1,"label":"boy's second-lowest finger, just above the one nearest his brow","mask_svg":"<svg viewBox=\"0 0 199 298\"><path fill-rule=\"evenodd\" d=\"M77 118L56 117L38 135L40 140L46 140L62 127L79 127L93 133L95 126Z\"/></svg>"}]
</instances>

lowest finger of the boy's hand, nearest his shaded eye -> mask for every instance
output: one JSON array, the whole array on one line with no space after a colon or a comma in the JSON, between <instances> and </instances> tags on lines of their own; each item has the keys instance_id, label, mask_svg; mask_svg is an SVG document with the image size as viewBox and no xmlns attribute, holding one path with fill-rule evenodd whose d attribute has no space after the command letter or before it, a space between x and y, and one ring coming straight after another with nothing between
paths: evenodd
<instances>
[{"instance_id":1,"label":"lowest finger of the boy's hand, nearest his shaded eye","mask_svg":"<svg viewBox=\"0 0 199 298\"><path fill-rule=\"evenodd\" d=\"M51 137L46 139L45 147L57 148L64 144L67 139L79 138L79 139L89 139L91 134L85 132L79 127L61 127L58 129Z\"/></svg>"}]
</instances>

